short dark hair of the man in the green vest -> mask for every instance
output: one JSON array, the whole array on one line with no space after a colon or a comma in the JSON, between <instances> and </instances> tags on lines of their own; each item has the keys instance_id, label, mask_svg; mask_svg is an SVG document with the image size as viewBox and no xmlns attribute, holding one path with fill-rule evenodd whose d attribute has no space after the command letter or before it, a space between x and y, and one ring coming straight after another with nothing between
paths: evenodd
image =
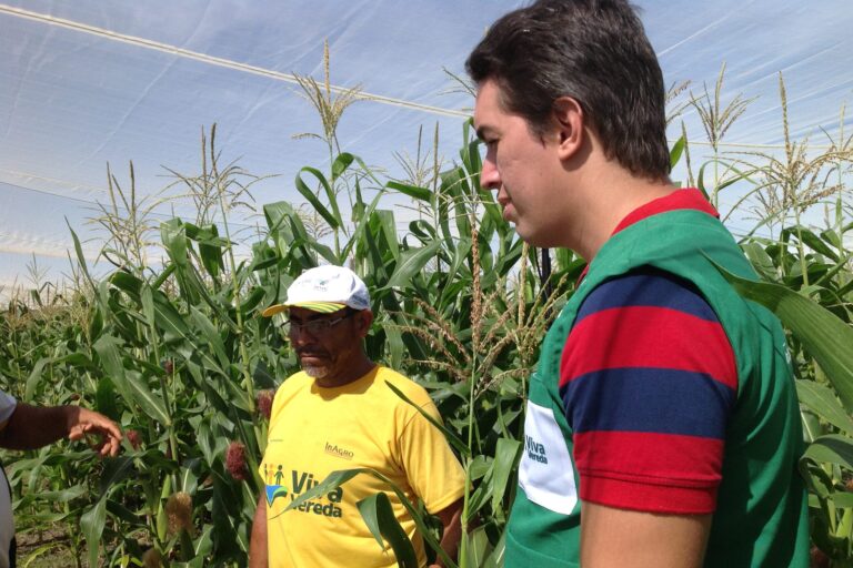
<instances>
[{"instance_id":1,"label":"short dark hair of the man in the green vest","mask_svg":"<svg viewBox=\"0 0 853 568\"><path fill-rule=\"evenodd\" d=\"M468 58L478 84L542 135L554 101L571 97L604 153L634 175L666 180L670 155L663 73L626 0L540 0L498 20Z\"/></svg>"}]
</instances>

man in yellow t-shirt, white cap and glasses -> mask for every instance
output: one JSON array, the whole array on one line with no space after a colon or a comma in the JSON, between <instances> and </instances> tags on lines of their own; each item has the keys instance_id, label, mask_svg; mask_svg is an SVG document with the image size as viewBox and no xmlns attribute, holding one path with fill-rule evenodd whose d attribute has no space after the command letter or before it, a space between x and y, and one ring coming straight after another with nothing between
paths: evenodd
<instances>
[{"instance_id":1,"label":"man in yellow t-shirt, white cap and glasses","mask_svg":"<svg viewBox=\"0 0 853 568\"><path fill-rule=\"evenodd\" d=\"M378 545L357 507L384 491L424 566L426 555L414 520L392 488L372 475L358 475L284 511L330 473L353 468L374 469L411 501L421 500L441 519L441 546L454 556L464 473L441 432L385 383L441 419L426 392L364 353L362 341L373 321L364 283L340 266L311 268L288 288L283 304L263 315L280 313L288 317L288 335L302 371L281 385L272 405L260 465L265 488L254 516L249 565L397 566L393 550Z\"/></svg>"}]
</instances>

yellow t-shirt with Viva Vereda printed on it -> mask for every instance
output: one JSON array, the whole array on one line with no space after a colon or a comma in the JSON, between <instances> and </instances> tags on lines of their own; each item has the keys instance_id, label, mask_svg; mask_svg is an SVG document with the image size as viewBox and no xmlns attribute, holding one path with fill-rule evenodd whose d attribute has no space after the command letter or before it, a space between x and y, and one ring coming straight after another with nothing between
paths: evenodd
<instances>
[{"instance_id":1,"label":"yellow t-shirt with Viva Vereda printed on it","mask_svg":"<svg viewBox=\"0 0 853 568\"><path fill-rule=\"evenodd\" d=\"M412 539L421 565L423 541L414 520L382 480L360 474L337 490L282 511L331 471L370 467L438 513L461 498L464 473L442 433L391 390L441 419L426 392L387 367L377 366L341 387L323 388L304 373L275 393L267 452L259 468L267 484L267 539L271 568L394 567L355 506L379 491Z\"/></svg>"}]
</instances>

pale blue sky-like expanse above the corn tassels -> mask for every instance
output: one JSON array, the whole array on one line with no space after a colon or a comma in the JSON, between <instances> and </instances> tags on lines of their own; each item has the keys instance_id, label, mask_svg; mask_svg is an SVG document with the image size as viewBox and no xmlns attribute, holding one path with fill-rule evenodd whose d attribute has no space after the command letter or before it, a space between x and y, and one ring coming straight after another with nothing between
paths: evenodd
<instances>
[{"instance_id":1,"label":"pale blue sky-like expanse above the corn tassels","mask_svg":"<svg viewBox=\"0 0 853 568\"><path fill-rule=\"evenodd\" d=\"M199 170L199 134L214 122L225 161L278 174L255 185L259 207L299 201L295 173L304 165L322 169L328 158L322 143L292 138L317 132L319 119L298 88L274 73L322 79L324 39L334 84L449 111L357 102L339 130L345 150L393 175L393 153L413 154L419 126L429 139L438 122L440 154L452 160L463 122L453 113L472 100L448 93L454 83L443 69L462 73L489 23L520 4L0 1L0 287L26 281L33 254L48 277L67 272L66 219L83 237L94 236L86 219L107 200L108 162L127 186L132 160L138 192L155 194L169 183L163 165ZM821 145L821 129L837 133L841 106L853 94L849 0L639 4L668 83L690 80L694 93L703 84L712 90L725 62L723 101L739 92L756 98L725 143L781 144L780 71L792 134ZM694 111L683 120L699 162L702 128ZM846 126L853 126L850 118ZM233 221L255 222L245 214ZM96 251L87 245L90 256Z\"/></svg>"}]
</instances>

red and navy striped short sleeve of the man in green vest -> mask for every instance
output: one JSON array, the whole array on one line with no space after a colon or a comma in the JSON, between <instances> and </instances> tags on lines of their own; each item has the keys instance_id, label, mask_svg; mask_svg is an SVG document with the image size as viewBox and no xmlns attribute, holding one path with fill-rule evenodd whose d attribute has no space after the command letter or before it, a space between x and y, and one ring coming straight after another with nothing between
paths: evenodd
<instances>
[{"instance_id":1,"label":"red and navy striped short sleeve of the man in green vest","mask_svg":"<svg viewBox=\"0 0 853 568\"><path fill-rule=\"evenodd\" d=\"M641 268L601 284L560 368L581 499L712 513L736 393L731 343L691 283Z\"/></svg>"}]
</instances>

